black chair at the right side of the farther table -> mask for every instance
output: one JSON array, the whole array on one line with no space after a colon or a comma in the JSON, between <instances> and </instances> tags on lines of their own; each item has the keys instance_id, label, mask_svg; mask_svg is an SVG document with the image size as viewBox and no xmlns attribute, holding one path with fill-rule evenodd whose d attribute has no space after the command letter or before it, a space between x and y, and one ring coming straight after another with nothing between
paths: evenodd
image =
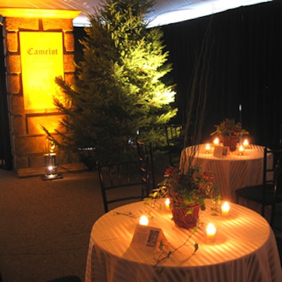
<instances>
[{"instance_id":1,"label":"black chair at the right side of the farther table","mask_svg":"<svg viewBox=\"0 0 282 282\"><path fill-rule=\"evenodd\" d=\"M272 154L273 161L267 163L267 156ZM240 203L240 197L261 204L261 214L265 216L265 207L271 206L270 224L274 222L276 204L282 202L279 200L281 187L278 183L281 180L282 173L282 149L264 148L264 164L263 164L263 183L236 190L236 202Z\"/></svg>"}]
</instances>

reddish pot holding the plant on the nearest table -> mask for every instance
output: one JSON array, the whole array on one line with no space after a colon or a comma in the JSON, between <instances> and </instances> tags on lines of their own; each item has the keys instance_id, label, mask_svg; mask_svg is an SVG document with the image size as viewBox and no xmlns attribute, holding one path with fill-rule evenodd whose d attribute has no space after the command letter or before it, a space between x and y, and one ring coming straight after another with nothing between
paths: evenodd
<instances>
[{"instance_id":1,"label":"reddish pot holding the plant on the nearest table","mask_svg":"<svg viewBox=\"0 0 282 282\"><path fill-rule=\"evenodd\" d=\"M200 205L191 204L189 206L186 206L185 208L173 207L171 209L171 212L173 221L177 226L190 229L197 226L197 222L199 220Z\"/></svg>"}]
</instances>

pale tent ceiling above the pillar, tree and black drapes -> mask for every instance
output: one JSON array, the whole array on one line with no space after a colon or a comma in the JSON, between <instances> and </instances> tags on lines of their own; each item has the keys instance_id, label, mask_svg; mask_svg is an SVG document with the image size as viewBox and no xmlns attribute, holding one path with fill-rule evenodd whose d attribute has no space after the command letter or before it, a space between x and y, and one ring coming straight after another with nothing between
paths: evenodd
<instances>
[{"instance_id":1,"label":"pale tent ceiling above the pillar, tree and black drapes","mask_svg":"<svg viewBox=\"0 0 282 282\"><path fill-rule=\"evenodd\" d=\"M149 13L150 26L176 23L219 13L239 6L248 6L271 0L156 0ZM87 25L87 13L99 6L102 0L0 0L0 8L54 8L80 10L73 20L75 26Z\"/></svg>"}]
</instances>

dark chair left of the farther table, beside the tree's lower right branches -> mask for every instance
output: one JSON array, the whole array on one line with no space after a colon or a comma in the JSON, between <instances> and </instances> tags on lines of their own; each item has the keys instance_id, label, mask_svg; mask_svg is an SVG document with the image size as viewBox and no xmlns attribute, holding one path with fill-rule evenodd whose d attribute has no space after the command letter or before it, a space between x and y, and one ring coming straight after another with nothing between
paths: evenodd
<instances>
[{"instance_id":1,"label":"dark chair left of the farther table, beside the tree's lower right branches","mask_svg":"<svg viewBox=\"0 0 282 282\"><path fill-rule=\"evenodd\" d=\"M171 166L179 166L180 155L184 146L184 128L182 124L165 125L166 146Z\"/></svg>"}]
</instances>

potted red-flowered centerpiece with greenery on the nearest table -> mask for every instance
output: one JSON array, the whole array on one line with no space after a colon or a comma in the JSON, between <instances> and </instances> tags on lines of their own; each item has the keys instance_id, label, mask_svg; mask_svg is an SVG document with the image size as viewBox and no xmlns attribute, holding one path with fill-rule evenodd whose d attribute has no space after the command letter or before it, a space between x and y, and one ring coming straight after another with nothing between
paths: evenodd
<instances>
[{"instance_id":1,"label":"potted red-flowered centerpiece with greenery on the nearest table","mask_svg":"<svg viewBox=\"0 0 282 282\"><path fill-rule=\"evenodd\" d=\"M214 183L214 173L200 173L199 166L191 166L188 173L181 173L176 167L169 166L164 180L151 196L168 197L171 202L173 221L183 228L197 225L200 209L205 209L204 199L212 197L219 200L218 185Z\"/></svg>"}]
</instances>

